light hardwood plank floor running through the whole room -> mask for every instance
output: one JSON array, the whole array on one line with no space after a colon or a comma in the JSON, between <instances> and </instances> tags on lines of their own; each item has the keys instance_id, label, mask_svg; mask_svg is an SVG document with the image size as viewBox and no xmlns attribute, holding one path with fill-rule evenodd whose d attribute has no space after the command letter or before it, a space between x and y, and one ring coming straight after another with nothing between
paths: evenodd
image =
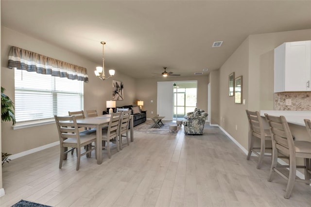
<instances>
[{"instance_id":1,"label":"light hardwood plank floor running through the whole room","mask_svg":"<svg viewBox=\"0 0 311 207\"><path fill-rule=\"evenodd\" d=\"M202 136L135 133L135 140L103 164L68 155L58 169L55 146L5 164L1 207L20 199L55 207L310 207L311 187L295 183L284 199L286 181L267 182L270 159L256 169L218 127L206 125Z\"/></svg>"}]
</instances>

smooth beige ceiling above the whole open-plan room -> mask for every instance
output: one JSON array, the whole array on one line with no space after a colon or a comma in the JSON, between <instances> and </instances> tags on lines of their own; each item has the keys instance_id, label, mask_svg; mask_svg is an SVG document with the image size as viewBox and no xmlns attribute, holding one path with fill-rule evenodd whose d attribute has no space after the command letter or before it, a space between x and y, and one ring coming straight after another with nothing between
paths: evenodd
<instances>
[{"instance_id":1,"label":"smooth beige ceiling above the whole open-plan room","mask_svg":"<svg viewBox=\"0 0 311 207\"><path fill-rule=\"evenodd\" d=\"M207 75L248 35L311 29L311 1L1 0L1 24L99 66L105 41L105 69L132 77Z\"/></svg>"}]
</instances>

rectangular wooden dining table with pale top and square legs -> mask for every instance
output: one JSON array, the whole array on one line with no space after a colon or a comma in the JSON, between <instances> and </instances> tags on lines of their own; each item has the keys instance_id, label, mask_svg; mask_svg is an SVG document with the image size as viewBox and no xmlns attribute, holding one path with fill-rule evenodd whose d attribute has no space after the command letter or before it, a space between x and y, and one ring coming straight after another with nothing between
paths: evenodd
<instances>
[{"instance_id":1,"label":"rectangular wooden dining table with pale top and square legs","mask_svg":"<svg viewBox=\"0 0 311 207\"><path fill-rule=\"evenodd\" d=\"M105 114L97 117L85 117L83 119L77 119L78 127L96 128L96 155L97 164L103 163L102 156L102 127L109 125L111 114ZM133 115L130 117L130 137L131 141L134 141L134 121Z\"/></svg>"}]
</instances>

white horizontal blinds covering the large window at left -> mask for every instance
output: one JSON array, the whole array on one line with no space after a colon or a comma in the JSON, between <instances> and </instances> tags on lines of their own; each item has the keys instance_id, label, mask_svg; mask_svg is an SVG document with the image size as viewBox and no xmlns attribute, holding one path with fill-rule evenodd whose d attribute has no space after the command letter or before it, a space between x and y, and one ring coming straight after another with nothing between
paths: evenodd
<instances>
[{"instance_id":1,"label":"white horizontal blinds covering the large window at left","mask_svg":"<svg viewBox=\"0 0 311 207\"><path fill-rule=\"evenodd\" d=\"M83 110L83 83L15 69L16 121L45 120Z\"/></svg>"}]
</instances>

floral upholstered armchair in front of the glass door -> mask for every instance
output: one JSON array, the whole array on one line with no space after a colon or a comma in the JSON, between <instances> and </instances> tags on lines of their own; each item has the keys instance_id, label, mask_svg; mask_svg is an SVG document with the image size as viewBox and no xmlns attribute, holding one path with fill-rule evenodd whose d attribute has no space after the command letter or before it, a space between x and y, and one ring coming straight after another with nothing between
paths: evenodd
<instances>
[{"instance_id":1,"label":"floral upholstered armchair in front of the glass door","mask_svg":"<svg viewBox=\"0 0 311 207\"><path fill-rule=\"evenodd\" d=\"M184 133L190 135L202 135L206 118L206 112L202 112L198 116L188 116L187 120L183 121Z\"/></svg>"}]
</instances>

